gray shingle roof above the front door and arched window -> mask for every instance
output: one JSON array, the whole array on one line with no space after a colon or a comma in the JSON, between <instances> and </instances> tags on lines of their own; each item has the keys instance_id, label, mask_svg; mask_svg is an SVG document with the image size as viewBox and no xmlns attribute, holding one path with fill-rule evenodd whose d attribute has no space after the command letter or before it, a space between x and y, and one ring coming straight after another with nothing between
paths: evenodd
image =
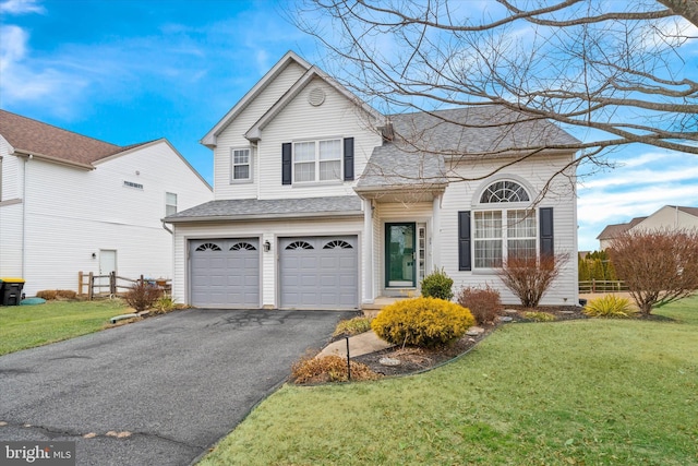
<instances>
[{"instance_id":1,"label":"gray shingle roof above the front door and arched window","mask_svg":"<svg viewBox=\"0 0 698 466\"><path fill-rule=\"evenodd\" d=\"M445 159L496 157L531 147L578 143L547 120L490 105L389 117L395 138L374 148L358 190L447 182Z\"/></svg>"}]
</instances>

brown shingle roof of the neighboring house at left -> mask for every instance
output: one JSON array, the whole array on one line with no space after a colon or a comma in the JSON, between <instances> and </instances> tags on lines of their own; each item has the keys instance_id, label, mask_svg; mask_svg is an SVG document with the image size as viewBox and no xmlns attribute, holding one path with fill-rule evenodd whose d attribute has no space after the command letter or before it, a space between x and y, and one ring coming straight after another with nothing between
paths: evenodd
<instances>
[{"instance_id":1,"label":"brown shingle roof of the neighboring house at left","mask_svg":"<svg viewBox=\"0 0 698 466\"><path fill-rule=\"evenodd\" d=\"M0 110L0 134L15 152L89 166L124 147Z\"/></svg>"}]
</instances>

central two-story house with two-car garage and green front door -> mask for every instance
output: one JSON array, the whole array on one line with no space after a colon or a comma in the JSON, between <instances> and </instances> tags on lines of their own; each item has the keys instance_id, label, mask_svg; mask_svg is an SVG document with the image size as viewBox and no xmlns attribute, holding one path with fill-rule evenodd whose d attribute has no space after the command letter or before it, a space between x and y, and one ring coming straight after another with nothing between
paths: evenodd
<instances>
[{"instance_id":1,"label":"central two-story house with two-car garage and green front door","mask_svg":"<svg viewBox=\"0 0 698 466\"><path fill-rule=\"evenodd\" d=\"M542 303L576 304L574 153L510 164L530 141L576 140L518 117L496 106L384 116L288 52L202 140L215 200L166 218L173 294L202 308L354 309L417 291L443 267L456 288L490 284L516 303L502 259L567 252ZM414 136L434 151L416 151Z\"/></svg>"}]
</instances>

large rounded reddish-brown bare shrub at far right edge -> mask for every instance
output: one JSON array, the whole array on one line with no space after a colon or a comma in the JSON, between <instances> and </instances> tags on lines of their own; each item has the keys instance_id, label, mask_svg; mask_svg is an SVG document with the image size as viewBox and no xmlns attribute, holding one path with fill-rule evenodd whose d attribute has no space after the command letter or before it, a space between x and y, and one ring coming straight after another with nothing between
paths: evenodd
<instances>
[{"instance_id":1,"label":"large rounded reddish-brown bare shrub at far right edge","mask_svg":"<svg viewBox=\"0 0 698 466\"><path fill-rule=\"evenodd\" d=\"M698 230L626 231L610 253L643 316L698 290Z\"/></svg>"}]
</instances>

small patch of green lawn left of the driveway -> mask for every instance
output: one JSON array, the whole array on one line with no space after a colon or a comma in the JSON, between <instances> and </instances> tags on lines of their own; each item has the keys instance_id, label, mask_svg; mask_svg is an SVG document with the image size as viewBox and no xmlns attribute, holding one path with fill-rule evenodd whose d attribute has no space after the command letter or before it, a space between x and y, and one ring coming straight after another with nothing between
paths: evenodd
<instances>
[{"instance_id":1,"label":"small patch of green lawn left of the driveway","mask_svg":"<svg viewBox=\"0 0 698 466\"><path fill-rule=\"evenodd\" d=\"M0 356L97 332L127 308L120 299L0 307Z\"/></svg>"}]
</instances>

